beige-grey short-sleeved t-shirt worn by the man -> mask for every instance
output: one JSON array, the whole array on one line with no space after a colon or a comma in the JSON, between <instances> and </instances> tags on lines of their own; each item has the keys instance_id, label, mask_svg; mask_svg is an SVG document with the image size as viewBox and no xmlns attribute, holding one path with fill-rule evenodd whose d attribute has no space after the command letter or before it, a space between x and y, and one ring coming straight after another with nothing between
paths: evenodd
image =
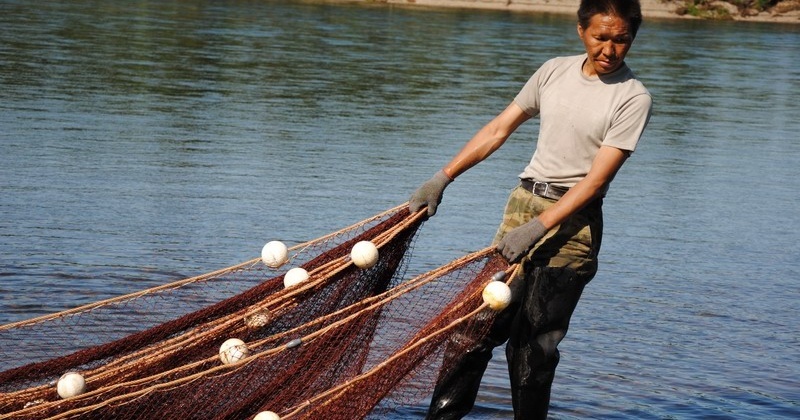
<instances>
[{"instance_id":1,"label":"beige-grey short-sleeved t-shirt worn by the man","mask_svg":"<svg viewBox=\"0 0 800 420\"><path fill-rule=\"evenodd\" d=\"M536 152L520 178L572 187L589 173L600 146L636 149L650 119L650 93L624 64L607 76L584 75L586 58L547 61L514 98L540 118Z\"/></svg>"}]
</instances>

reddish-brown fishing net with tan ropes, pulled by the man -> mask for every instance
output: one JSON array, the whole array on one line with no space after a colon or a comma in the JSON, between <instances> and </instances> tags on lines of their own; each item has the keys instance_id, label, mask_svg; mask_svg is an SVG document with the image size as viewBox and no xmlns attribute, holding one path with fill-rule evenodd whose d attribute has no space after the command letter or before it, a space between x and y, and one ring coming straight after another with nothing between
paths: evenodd
<instances>
[{"instance_id":1,"label":"reddish-brown fishing net with tan ropes, pulled by the man","mask_svg":"<svg viewBox=\"0 0 800 420\"><path fill-rule=\"evenodd\" d=\"M445 353L486 333L494 312L481 291L510 270L487 249L400 282L421 223L398 206L293 247L292 263L311 278L292 288L253 260L0 326L0 356L11 363L0 372L0 418L244 419L270 410L352 419L419 406ZM372 268L348 257L361 240L380 250ZM205 306L176 313L187 302ZM140 328L118 331L123 324ZM219 347L231 337L249 355L222 364ZM80 372L87 391L61 399L55 381L67 371Z\"/></svg>"}]
</instances>

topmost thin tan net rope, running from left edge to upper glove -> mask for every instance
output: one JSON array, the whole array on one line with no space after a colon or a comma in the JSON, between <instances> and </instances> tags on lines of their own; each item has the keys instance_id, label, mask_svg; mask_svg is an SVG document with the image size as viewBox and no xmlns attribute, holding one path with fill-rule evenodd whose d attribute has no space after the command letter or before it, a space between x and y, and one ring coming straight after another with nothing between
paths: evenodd
<instances>
[{"instance_id":1,"label":"topmost thin tan net rope, running from left edge to upper glove","mask_svg":"<svg viewBox=\"0 0 800 420\"><path fill-rule=\"evenodd\" d=\"M312 240L309 240L309 241L306 241L306 242L303 242L303 243L300 243L300 244L297 244L297 245L293 245L292 247L289 248L289 251L290 252L295 252L295 253L302 252L303 250L305 250L306 248L308 248L309 246L311 246L311 245L313 245L315 243L323 242L325 240L328 240L328 239L330 239L332 237L335 237L335 236L341 234L342 232L346 232L346 231L349 231L349 230L357 229L360 226L364 226L364 225L366 225L368 223L371 223L371 222L374 222L376 220L379 220L379 219L381 219L383 217L386 217L389 214L397 212L399 209L402 209L403 207L405 207L407 205L408 205L407 202L403 203L403 204L400 204L400 205L395 206L395 207L393 207L391 209L388 209L388 210L383 211L383 212L381 212L379 214L376 214L376 215L374 215L372 217L364 219L364 220L362 220L360 222L357 222L357 223L354 223L354 224L352 224L350 226L342 228L342 229L340 229L338 231L328 233L328 234L320 236L320 237L318 237L316 239L312 239ZM421 213L421 212L418 212L418 213ZM421 215L420 215L420 217L421 217ZM187 284L196 283L196 282L200 282L200 281L205 281L205 280L208 280L208 279L211 279L211 278L218 277L218 276L220 276L222 274L230 273L230 272L233 272L233 271L236 271L236 270L240 270L240 269L243 269L243 268L246 268L246 267L250 267L250 266L259 264L260 261L261 261L260 258L253 258L253 259L251 259L249 261L245 261L245 262L230 266L228 268L223 268L223 269L219 269L219 270L212 271L212 272L209 272L209 273L201 274L199 276L189 277L189 278L186 278L186 279L182 279L182 280L178 280L178 281L175 281L175 282L163 284L163 285L160 285L160 286L155 286L155 287L139 290L139 291L136 291L136 292L133 292L133 293L129 293L129 294L121 295L121 296L116 296L116 297L109 298L109 299L99 300L97 302L88 303L86 305L78 306L78 307L67 309L67 310L64 310L64 311L55 312L55 313L52 313L52 314L46 314L46 315L42 315L42 316L35 317L35 318L30 318L30 319L26 319L26 320L11 322L11 323L8 323L8 324L0 325L0 331L11 330L11 329L24 327L24 326L34 325L34 324L38 324L38 323L41 323L41 322L45 322L45 321L49 321L49 320L53 320L53 319L57 319L57 318L63 318L63 317L68 316L68 315L74 315L74 314L78 314L78 313L82 313L82 312L87 312L87 311L90 311L92 309L96 309L96 308L99 308L99 307L102 307L102 306L107 306L107 305L114 304L114 303L120 303L120 302L124 302L124 301L128 301L128 300L136 299L136 298L139 298L139 297L142 297L142 296L145 296L145 295L149 295L149 294L153 294L153 293L156 293L156 292L180 288L180 287L185 286Z\"/></svg>"}]
</instances>

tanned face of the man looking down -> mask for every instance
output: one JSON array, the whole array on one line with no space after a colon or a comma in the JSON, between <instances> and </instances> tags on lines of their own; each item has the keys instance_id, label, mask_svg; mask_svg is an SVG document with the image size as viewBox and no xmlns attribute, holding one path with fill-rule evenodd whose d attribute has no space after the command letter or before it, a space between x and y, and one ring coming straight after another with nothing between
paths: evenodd
<instances>
[{"instance_id":1,"label":"tanned face of the man looking down","mask_svg":"<svg viewBox=\"0 0 800 420\"><path fill-rule=\"evenodd\" d=\"M592 16L588 27L578 24L578 35L589 55L583 66L587 76L609 74L619 69L633 43L628 23L614 15Z\"/></svg>"}]
</instances>

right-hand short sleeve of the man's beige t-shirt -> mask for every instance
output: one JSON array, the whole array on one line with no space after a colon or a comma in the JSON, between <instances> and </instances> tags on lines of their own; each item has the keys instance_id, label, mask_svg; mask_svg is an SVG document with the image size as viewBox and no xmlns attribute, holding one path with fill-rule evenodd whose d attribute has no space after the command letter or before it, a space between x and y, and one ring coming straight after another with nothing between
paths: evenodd
<instances>
[{"instance_id":1,"label":"right-hand short sleeve of the man's beige t-shirt","mask_svg":"<svg viewBox=\"0 0 800 420\"><path fill-rule=\"evenodd\" d=\"M614 120L603 139L603 145L633 152L642 137L653 108L653 99L647 93L630 98L614 115Z\"/></svg>"}]
</instances>

